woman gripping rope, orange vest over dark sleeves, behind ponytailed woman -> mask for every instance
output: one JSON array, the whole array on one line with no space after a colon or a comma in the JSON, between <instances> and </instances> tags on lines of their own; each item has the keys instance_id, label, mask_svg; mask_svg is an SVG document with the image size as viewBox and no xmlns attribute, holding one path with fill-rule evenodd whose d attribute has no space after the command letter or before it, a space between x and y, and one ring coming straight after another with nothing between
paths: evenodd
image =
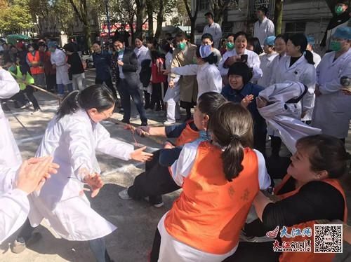
<instances>
[{"instance_id":1,"label":"woman gripping rope, orange vest over dark sleeves, behind ponytailed woman","mask_svg":"<svg viewBox=\"0 0 351 262\"><path fill-rule=\"evenodd\" d=\"M152 160L145 164L145 172L135 177L132 186L119 193L120 198L138 200L148 196L150 204L154 207L164 205L161 195L180 188L173 181L168 166L171 166L178 159L184 144L194 142L197 139L208 140L206 133L208 119L225 102L223 95L216 92L206 92L199 97L197 104L199 117L196 120L166 127L138 127L137 132L143 130L152 136L176 138L176 142L174 145L171 142L166 142L164 149L153 152Z\"/></svg>"}]
</instances>

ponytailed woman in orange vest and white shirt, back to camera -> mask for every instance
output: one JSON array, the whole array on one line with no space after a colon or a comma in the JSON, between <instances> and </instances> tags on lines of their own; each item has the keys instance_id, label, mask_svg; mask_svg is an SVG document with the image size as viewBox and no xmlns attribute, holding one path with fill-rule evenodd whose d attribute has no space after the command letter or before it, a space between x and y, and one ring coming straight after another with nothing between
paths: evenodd
<instances>
[{"instance_id":1,"label":"ponytailed woman in orange vest and white shirt, back to camera","mask_svg":"<svg viewBox=\"0 0 351 262\"><path fill-rule=\"evenodd\" d=\"M185 144L170 167L183 192L159 221L152 262L219 262L231 256L253 199L270 186L262 154L251 149L253 120L244 106L220 106L208 133L211 142Z\"/></svg>"}]
</instances>

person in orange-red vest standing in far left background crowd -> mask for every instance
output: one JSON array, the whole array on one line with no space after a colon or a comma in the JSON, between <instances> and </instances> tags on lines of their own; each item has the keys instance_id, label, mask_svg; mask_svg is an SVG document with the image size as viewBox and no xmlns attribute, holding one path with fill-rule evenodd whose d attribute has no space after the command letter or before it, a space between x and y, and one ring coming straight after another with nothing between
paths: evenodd
<instances>
[{"instance_id":1,"label":"person in orange-red vest standing in far left background crowd","mask_svg":"<svg viewBox=\"0 0 351 262\"><path fill-rule=\"evenodd\" d=\"M44 64L40 59L39 46L37 44L28 45L27 64L29 65L30 74L34 78L34 84L45 87Z\"/></svg>"}]
</instances>

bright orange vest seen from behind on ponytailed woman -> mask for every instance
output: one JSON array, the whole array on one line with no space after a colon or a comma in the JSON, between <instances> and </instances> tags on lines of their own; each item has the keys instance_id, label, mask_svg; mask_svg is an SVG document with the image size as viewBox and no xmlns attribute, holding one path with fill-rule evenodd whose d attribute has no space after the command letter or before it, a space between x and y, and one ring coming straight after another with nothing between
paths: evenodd
<instances>
[{"instance_id":1,"label":"bright orange vest seen from behind on ponytailed woman","mask_svg":"<svg viewBox=\"0 0 351 262\"><path fill-rule=\"evenodd\" d=\"M237 246L246 216L260 190L256 153L244 149L244 170L231 182L225 179L222 151L201 142L183 192L166 215L167 232L190 247L225 254Z\"/></svg>"}]
</instances>

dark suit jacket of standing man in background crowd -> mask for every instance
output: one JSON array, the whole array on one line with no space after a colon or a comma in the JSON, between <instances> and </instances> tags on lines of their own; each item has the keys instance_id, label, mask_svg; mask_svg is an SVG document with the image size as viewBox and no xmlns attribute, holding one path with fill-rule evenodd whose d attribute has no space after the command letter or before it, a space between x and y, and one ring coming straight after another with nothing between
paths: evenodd
<instances>
[{"instance_id":1,"label":"dark suit jacket of standing man in background crowd","mask_svg":"<svg viewBox=\"0 0 351 262\"><path fill-rule=\"evenodd\" d=\"M116 55L116 59L118 59L118 55ZM124 78L126 78L126 83L128 84L129 88L138 88L138 58L136 57L133 49L124 49L122 62L124 63L122 66ZM118 85L120 81L118 64L116 67L116 81Z\"/></svg>"}]
</instances>

